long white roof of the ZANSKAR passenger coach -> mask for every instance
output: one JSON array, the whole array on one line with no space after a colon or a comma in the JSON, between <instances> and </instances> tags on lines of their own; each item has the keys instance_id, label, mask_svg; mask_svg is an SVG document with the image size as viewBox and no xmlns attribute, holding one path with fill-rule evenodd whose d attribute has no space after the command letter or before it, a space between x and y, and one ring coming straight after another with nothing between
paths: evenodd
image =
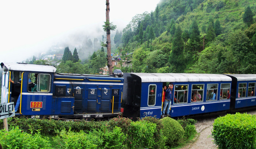
<instances>
[{"instance_id":1,"label":"long white roof of the ZANSKAR passenger coach","mask_svg":"<svg viewBox=\"0 0 256 149\"><path fill-rule=\"evenodd\" d=\"M142 82L197 82L231 81L229 76L198 73L131 73L141 78Z\"/></svg>"}]
</instances>

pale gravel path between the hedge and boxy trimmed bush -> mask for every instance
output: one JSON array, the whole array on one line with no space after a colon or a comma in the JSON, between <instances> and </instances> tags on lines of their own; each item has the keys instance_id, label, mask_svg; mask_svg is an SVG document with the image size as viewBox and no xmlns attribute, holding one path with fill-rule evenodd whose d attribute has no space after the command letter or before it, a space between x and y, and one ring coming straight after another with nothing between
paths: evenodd
<instances>
[{"instance_id":1,"label":"pale gravel path between the hedge and boxy trimmed bush","mask_svg":"<svg viewBox=\"0 0 256 149\"><path fill-rule=\"evenodd\" d=\"M242 113L242 112L240 112ZM247 112L248 114L256 114L256 111ZM217 117L216 117L217 118ZM211 137L211 130L215 118L208 118L205 120L197 120L196 131L198 135L194 138L192 143L180 149L218 149L213 142L214 138Z\"/></svg>"}]
</instances>

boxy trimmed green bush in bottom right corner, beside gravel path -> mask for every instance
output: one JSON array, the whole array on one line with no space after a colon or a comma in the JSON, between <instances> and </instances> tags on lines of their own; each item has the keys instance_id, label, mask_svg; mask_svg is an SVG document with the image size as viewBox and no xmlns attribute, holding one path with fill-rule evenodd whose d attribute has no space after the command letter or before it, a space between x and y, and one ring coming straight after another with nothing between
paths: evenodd
<instances>
[{"instance_id":1,"label":"boxy trimmed green bush in bottom right corner, beside gravel path","mask_svg":"<svg viewBox=\"0 0 256 149\"><path fill-rule=\"evenodd\" d=\"M227 114L214 120L212 136L219 149L255 149L256 117L251 114Z\"/></svg>"}]
</instances>

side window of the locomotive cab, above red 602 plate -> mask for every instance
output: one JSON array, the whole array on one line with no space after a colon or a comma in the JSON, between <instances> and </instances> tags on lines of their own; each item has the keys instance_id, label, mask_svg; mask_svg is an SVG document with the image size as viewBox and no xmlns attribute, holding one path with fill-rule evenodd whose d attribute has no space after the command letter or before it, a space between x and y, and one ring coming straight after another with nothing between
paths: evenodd
<instances>
[{"instance_id":1,"label":"side window of the locomotive cab, above red 602 plate","mask_svg":"<svg viewBox=\"0 0 256 149\"><path fill-rule=\"evenodd\" d=\"M29 92L50 92L50 74L43 73L30 73L29 78L34 83L34 87L30 89L30 84L28 84ZM29 82L30 83L30 82Z\"/></svg>"}]
</instances>

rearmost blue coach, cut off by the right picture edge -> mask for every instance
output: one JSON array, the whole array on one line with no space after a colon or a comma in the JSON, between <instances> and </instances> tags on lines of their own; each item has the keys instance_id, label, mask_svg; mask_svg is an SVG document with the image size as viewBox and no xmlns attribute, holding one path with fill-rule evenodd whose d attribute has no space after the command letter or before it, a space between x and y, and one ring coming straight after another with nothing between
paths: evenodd
<instances>
[{"instance_id":1,"label":"rearmost blue coach, cut off by the right picture edge","mask_svg":"<svg viewBox=\"0 0 256 149\"><path fill-rule=\"evenodd\" d=\"M233 74L227 76L232 78L230 109L255 106L256 75Z\"/></svg>"}]
</instances>

